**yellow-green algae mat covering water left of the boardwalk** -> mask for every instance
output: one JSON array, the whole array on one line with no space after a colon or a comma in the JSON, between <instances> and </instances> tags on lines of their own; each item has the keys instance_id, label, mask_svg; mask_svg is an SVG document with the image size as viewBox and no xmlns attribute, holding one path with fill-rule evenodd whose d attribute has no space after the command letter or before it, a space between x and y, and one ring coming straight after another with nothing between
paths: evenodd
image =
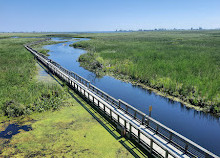
<instances>
[{"instance_id":1,"label":"yellow-green algae mat covering water left of the boardwalk","mask_svg":"<svg viewBox=\"0 0 220 158\"><path fill-rule=\"evenodd\" d=\"M73 93L73 92L72 92ZM70 106L56 111L33 113L20 122L1 128L0 155L5 157L133 157L129 150L142 152L116 131L99 113L75 93L68 95ZM91 115L90 115L91 114ZM20 119L16 121L14 119ZM12 125L14 122L12 122ZM19 130L19 131L18 131ZM13 135L13 136L12 136ZM12 136L12 139L11 139ZM123 142L123 144L121 143ZM126 149L123 145L126 146Z\"/></svg>"}]
</instances>

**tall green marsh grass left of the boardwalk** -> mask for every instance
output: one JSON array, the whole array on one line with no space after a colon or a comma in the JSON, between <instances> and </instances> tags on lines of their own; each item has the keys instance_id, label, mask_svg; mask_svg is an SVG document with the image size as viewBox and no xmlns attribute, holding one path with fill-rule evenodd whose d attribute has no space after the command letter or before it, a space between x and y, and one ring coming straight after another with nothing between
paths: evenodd
<instances>
[{"instance_id":1,"label":"tall green marsh grass left of the boardwalk","mask_svg":"<svg viewBox=\"0 0 220 158\"><path fill-rule=\"evenodd\" d=\"M65 105L58 85L36 82L34 57L23 44L39 38L0 39L0 115L11 117Z\"/></svg>"}]
</instances>

